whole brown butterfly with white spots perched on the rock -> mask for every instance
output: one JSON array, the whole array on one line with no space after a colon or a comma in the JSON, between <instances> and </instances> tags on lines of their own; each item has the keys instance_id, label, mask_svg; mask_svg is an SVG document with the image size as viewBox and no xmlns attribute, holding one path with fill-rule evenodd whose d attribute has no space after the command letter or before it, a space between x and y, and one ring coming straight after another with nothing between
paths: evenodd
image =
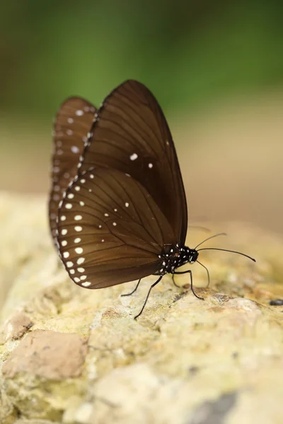
<instances>
[{"instance_id":1,"label":"whole brown butterfly with white spots perched on the rock","mask_svg":"<svg viewBox=\"0 0 283 424\"><path fill-rule=\"evenodd\" d=\"M54 131L50 229L70 278L92 289L138 280L132 294L142 278L155 275L135 319L166 273L190 273L192 293L200 298L192 271L177 271L201 264L204 248L185 245L183 179L171 131L151 91L125 81L98 110L86 100L69 99Z\"/></svg>"}]
</instances>

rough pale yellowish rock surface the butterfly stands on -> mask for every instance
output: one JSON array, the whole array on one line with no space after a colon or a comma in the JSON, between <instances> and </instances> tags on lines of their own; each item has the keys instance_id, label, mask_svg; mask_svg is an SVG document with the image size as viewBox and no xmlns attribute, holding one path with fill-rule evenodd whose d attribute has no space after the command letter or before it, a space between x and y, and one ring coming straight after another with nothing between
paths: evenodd
<instances>
[{"instance_id":1,"label":"rough pale yellowish rock surface the butterfly stands on","mask_svg":"<svg viewBox=\"0 0 283 424\"><path fill-rule=\"evenodd\" d=\"M229 237L192 266L195 290L166 276L87 290L50 241L46 199L0 199L1 424L281 424L283 242L257 228L207 226ZM190 230L194 246L207 234ZM187 285L187 276L176 276ZM202 287L202 288L201 288Z\"/></svg>"}]
</instances>

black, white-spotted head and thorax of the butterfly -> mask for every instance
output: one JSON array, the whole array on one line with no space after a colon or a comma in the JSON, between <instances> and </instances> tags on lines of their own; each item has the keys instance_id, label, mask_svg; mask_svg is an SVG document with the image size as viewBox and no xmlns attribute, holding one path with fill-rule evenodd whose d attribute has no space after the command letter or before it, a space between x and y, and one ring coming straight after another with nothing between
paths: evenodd
<instances>
[{"instance_id":1,"label":"black, white-spotted head and thorax of the butterfly","mask_svg":"<svg viewBox=\"0 0 283 424\"><path fill-rule=\"evenodd\" d=\"M158 274L174 273L175 269L179 268L179 266L194 264L198 256L199 254L195 249L190 249L187 246L179 247L177 245L168 254L161 255L162 265L158 270Z\"/></svg>"}]
</instances>

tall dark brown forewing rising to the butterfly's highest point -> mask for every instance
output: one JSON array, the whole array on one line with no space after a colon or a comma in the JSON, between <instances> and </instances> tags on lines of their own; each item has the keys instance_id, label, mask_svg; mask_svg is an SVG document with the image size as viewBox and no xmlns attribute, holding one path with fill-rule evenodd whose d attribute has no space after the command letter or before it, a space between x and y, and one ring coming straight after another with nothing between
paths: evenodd
<instances>
[{"instance_id":1,"label":"tall dark brown forewing rising to the butterfly's highest point","mask_svg":"<svg viewBox=\"0 0 283 424\"><path fill-rule=\"evenodd\" d=\"M187 233L187 204L170 129L154 95L126 81L96 114L80 172L112 167L136 179L166 216L180 245Z\"/></svg>"}]
</instances>

